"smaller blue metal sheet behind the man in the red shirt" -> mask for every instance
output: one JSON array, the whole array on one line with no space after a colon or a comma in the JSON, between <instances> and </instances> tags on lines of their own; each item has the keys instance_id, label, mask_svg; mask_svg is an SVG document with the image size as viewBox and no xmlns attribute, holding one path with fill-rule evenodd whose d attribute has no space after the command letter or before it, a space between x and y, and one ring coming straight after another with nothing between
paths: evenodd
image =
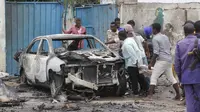
<instances>
[{"instance_id":1,"label":"smaller blue metal sheet behind the man in the red shirt","mask_svg":"<svg viewBox=\"0 0 200 112\"><path fill-rule=\"evenodd\" d=\"M116 5L92 5L76 8L76 17L82 19L87 34L97 36L101 41L105 40L110 23L118 16Z\"/></svg>"}]
</instances>

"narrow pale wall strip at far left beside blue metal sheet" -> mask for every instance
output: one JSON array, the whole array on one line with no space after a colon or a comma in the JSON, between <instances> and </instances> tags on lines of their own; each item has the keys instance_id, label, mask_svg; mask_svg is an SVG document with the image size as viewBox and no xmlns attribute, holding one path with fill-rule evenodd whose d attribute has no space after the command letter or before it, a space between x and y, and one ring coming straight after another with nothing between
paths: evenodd
<instances>
[{"instance_id":1,"label":"narrow pale wall strip at far left beside blue metal sheet","mask_svg":"<svg viewBox=\"0 0 200 112\"><path fill-rule=\"evenodd\" d=\"M6 70L5 0L0 0L0 71Z\"/></svg>"}]
</instances>

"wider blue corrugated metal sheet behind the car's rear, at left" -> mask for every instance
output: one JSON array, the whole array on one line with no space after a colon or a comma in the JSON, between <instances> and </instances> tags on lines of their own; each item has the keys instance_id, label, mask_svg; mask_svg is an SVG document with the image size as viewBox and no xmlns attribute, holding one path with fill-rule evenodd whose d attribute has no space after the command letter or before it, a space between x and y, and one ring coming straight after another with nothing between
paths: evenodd
<instances>
[{"instance_id":1,"label":"wider blue corrugated metal sheet behind the car's rear, at left","mask_svg":"<svg viewBox=\"0 0 200 112\"><path fill-rule=\"evenodd\" d=\"M18 71L13 55L39 36L61 33L63 7L54 2L6 3L7 72Z\"/></svg>"}]
</instances>

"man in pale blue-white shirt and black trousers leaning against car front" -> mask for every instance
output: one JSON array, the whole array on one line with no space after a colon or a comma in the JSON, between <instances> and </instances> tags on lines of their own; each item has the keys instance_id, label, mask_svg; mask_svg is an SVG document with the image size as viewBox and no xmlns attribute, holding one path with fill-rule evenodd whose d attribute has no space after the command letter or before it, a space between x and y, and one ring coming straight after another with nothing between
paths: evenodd
<instances>
[{"instance_id":1,"label":"man in pale blue-white shirt and black trousers leaning against car front","mask_svg":"<svg viewBox=\"0 0 200 112\"><path fill-rule=\"evenodd\" d=\"M140 60L140 50L131 37L127 38L126 32L119 32L119 39L124 41L121 47L122 54L125 60L125 67L128 70L130 81L132 83L132 91L134 95L138 95L138 80L142 85L145 85L145 79L140 78L138 70L138 60ZM138 55L139 54L139 55Z\"/></svg>"}]
</instances>

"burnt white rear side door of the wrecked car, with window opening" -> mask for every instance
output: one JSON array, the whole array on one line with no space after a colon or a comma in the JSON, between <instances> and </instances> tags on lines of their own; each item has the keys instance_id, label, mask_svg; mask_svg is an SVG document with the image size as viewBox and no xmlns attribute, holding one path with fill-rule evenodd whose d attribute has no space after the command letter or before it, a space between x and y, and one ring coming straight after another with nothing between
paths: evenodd
<instances>
[{"instance_id":1,"label":"burnt white rear side door of the wrecked car, with window opening","mask_svg":"<svg viewBox=\"0 0 200 112\"><path fill-rule=\"evenodd\" d=\"M33 84L35 83L35 73L37 67L36 56L38 54L38 48L40 44L40 39L34 40L27 48L25 54L22 56L22 66L27 80Z\"/></svg>"}]
</instances>

